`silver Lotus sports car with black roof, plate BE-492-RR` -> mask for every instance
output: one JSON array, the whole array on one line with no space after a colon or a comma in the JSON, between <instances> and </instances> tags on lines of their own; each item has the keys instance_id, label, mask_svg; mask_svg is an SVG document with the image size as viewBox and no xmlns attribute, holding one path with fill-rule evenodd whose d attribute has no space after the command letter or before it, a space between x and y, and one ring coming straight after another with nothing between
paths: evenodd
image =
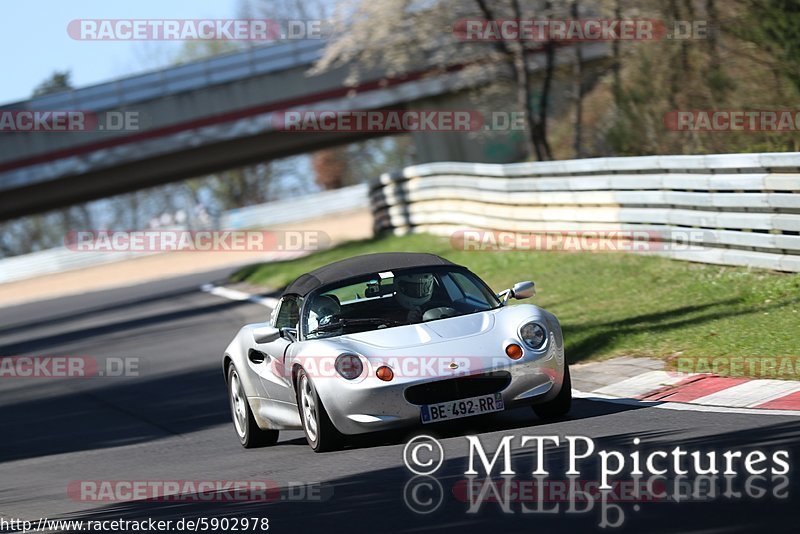
<instances>
[{"instance_id":1,"label":"silver Lotus sports car with black roof, plate BE-492-RR","mask_svg":"<svg viewBox=\"0 0 800 534\"><path fill-rule=\"evenodd\" d=\"M225 350L233 423L245 447L303 429L317 451L345 435L532 405L570 409L561 326L551 313L495 294L467 268L433 254L392 252L302 275L266 323Z\"/></svg>"}]
</instances>

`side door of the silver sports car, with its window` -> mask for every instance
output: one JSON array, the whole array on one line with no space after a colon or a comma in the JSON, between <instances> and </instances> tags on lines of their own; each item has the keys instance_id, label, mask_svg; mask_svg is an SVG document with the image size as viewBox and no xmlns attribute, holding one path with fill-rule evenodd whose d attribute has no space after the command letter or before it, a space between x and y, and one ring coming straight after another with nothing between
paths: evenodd
<instances>
[{"instance_id":1,"label":"side door of the silver sports car, with its window","mask_svg":"<svg viewBox=\"0 0 800 534\"><path fill-rule=\"evenodd\" d=\"M296 332L297 323L300 319L301 299L295 295L287 295L278 301L278 305L272 312L270 324L281 330L281 336L269 343L257 343L250 360L261 360L257 366L262 372L261 382L267 390L269 397L275 400L282 400L294 403L294 390L291 384L291 373L286 369L286 349L294 343L292 329ZM296 334L295 334L296 335ZM254 362L255 363L255 362Z\"/></svg>"}]
</instances>

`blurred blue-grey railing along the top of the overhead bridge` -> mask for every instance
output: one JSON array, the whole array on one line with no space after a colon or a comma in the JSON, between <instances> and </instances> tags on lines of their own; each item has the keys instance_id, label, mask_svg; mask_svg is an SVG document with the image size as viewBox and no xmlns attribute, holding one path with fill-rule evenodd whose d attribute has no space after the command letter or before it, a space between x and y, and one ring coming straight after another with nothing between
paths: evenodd
<instances>
[{"instance_id":1,"label":"blurred blue-grey railing along the top of the overhead bridge","mask_svg":"<svg viewBox=\"0 0 800 534\"><path fill-rule=\"evenodd\" d=\"M310 39L251 47L83 89L5 104L0 110L117 109L209 85L310 65L321 57L326 43L324 39Z\"/></svg>"}]
</instances>

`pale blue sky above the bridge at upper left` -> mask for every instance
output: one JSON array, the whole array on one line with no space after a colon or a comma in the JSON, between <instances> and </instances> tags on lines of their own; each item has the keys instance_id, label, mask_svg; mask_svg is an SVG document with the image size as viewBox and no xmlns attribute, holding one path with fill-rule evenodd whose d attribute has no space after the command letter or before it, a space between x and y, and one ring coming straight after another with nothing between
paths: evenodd
<instances>
[{"instance_id":1,"label":"pale blue sky above the bridge at upper left","mask_svg":"<svg viewBox=\"0 0 800 534\"><path fill-rule=\"evenodd\" d=\"M176 41L78 41L74 19L234 18L239 0L5 0L0 19L0 105L26 100L58 70L84 87L165 65Z\"/></svg>"}]
</instances>

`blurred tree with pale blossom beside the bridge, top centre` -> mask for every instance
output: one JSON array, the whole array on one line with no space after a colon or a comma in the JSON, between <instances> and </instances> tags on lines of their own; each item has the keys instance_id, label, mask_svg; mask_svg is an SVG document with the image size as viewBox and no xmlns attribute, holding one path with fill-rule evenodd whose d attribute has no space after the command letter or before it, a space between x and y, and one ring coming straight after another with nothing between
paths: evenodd
<instances>
[{"instance_id":1,"label":"blurred tree with pale blossom beside the bridge, top centre","mask_svg":"<svg viewBox=\"0 0 800 534\"><path fill-rule=\"evenodd\" d=\"M355 85L363 72L381 67L387 76L418 70L420 65L441 72L458 69L465 85L483 84L484 90L512 84L516 107L526 112L526 135L531 154L552 158L547 114L555 69L556 43L512 40L470 41L458 38L459 20L495 21L542 19L565 15L564 1L533 0L351 0L335 11L334 39L312 69L321 73L349 67L347 82ZM375 21L380 21L376 24ZM367 44L365 44L367 43ZM541 56L542 77L532 83L532 56ZM510 80L509 80L510 78Z\"/></svg>"}]
</instances>

